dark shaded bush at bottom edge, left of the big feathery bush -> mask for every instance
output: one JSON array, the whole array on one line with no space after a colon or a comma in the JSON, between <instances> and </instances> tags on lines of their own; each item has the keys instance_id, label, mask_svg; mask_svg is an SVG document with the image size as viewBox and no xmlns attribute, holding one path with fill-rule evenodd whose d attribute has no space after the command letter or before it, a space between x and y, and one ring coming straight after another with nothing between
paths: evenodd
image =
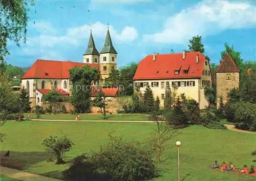
<instances>
[{"instance_id":1,"label":"dark shaded bush at bottom edge, left of the big feathery bush","mask_svg":"<svg viewBox=\"0 0 256 181\"><path fill-rule=\"evenodd\" d=\"M86 154L76 156L63 175L71 180L94 180L97 176L97 166Z\"/></svg>"}]
</instances>

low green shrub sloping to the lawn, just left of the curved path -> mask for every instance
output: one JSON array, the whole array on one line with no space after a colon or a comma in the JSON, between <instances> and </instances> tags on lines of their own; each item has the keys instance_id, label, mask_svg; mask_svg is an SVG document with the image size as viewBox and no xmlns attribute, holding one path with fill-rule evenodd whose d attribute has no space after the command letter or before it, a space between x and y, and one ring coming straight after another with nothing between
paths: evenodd
<instances>
[{"instance_id":1,"label":"low green shrub sloping to the lawn, just left of the curved path","mask_svg":"<svg viewBox=\"0 0 256 181\"><path fill-rule=\"evenodd\" d=\"M203 126L210 129L226 129L226 127L220 123L220 119L207 110L203 116Z\"/></svg>"}]
</instances>

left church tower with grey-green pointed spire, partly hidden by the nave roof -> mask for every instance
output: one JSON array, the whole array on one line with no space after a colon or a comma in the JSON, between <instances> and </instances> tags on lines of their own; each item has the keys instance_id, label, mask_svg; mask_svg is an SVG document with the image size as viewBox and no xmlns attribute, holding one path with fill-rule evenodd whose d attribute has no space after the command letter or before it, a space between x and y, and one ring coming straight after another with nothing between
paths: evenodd
<instances>
[{"instance_id":1,"label":"left church tower with grey-green pointed spire, partly hidden by the nave roof","mask_svg":"<svg viewBox=\"0 0 256 181\"><path fill-rule=\"evenodd\" d=\"M99 52L97 51L94 44L92 30L90 33L87 50L83 54L83 63L94 63L94 64L99 63Z\"/></svg>"}]
</instances>

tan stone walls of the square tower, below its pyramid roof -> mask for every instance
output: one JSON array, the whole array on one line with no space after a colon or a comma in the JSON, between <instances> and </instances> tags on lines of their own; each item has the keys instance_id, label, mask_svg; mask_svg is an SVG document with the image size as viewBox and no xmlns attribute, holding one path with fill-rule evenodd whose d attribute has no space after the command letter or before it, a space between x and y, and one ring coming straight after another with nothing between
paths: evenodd
<instances>
[{"instance_id":1,"label":"tan stone walls of the square tower, below its pyramid roof","mask_svg":"<svg viewBox=\"0 0 256 181\"><path fill-rule=\"evenodd\" d=\"M223 97L223 103L227 102L227 94L231 88L239 87L239 73L229 72L229 73L217 73L216 74L217 83L217 107L219 107L220 97Z\"/></svg>"}]
</instances>

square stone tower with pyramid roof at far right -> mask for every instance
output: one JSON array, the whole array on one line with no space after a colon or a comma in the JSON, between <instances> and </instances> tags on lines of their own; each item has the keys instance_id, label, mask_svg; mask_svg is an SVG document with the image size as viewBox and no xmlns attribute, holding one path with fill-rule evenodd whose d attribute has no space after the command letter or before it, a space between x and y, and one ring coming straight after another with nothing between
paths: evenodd
<instances>
[{"instance_id":1,"label":"square stone tower with pyramid roof at far right","mask_svg":"<svg viewBox=\"0 0 256 181\"><path fill-rule=\"evenodd\" d=\"M217 107L219 107L221 96L225 104L229 90L231 88L239 88L239 72L240 70L236 63L226 54L216 70Z\"/></svg>"}]
</instances>

